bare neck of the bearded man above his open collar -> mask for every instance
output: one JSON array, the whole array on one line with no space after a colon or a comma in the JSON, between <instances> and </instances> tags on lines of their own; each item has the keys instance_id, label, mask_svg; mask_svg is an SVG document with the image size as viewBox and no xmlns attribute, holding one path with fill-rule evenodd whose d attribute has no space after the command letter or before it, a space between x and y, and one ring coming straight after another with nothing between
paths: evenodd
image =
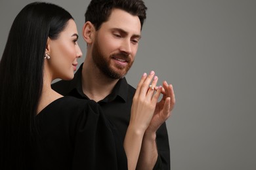
<instances>
[{"instance_id":1,"label":"bare neck of the bearded man above his open collar","mask_svg":"<svg viewBox=\"0 0 256 170\"><path fill-rule=\"evenodd\" d=\"M98 102L109 95L119 79L104 75L96 65L85 59L82 70L83 93Z\"/></svg>"}]
</instances>

